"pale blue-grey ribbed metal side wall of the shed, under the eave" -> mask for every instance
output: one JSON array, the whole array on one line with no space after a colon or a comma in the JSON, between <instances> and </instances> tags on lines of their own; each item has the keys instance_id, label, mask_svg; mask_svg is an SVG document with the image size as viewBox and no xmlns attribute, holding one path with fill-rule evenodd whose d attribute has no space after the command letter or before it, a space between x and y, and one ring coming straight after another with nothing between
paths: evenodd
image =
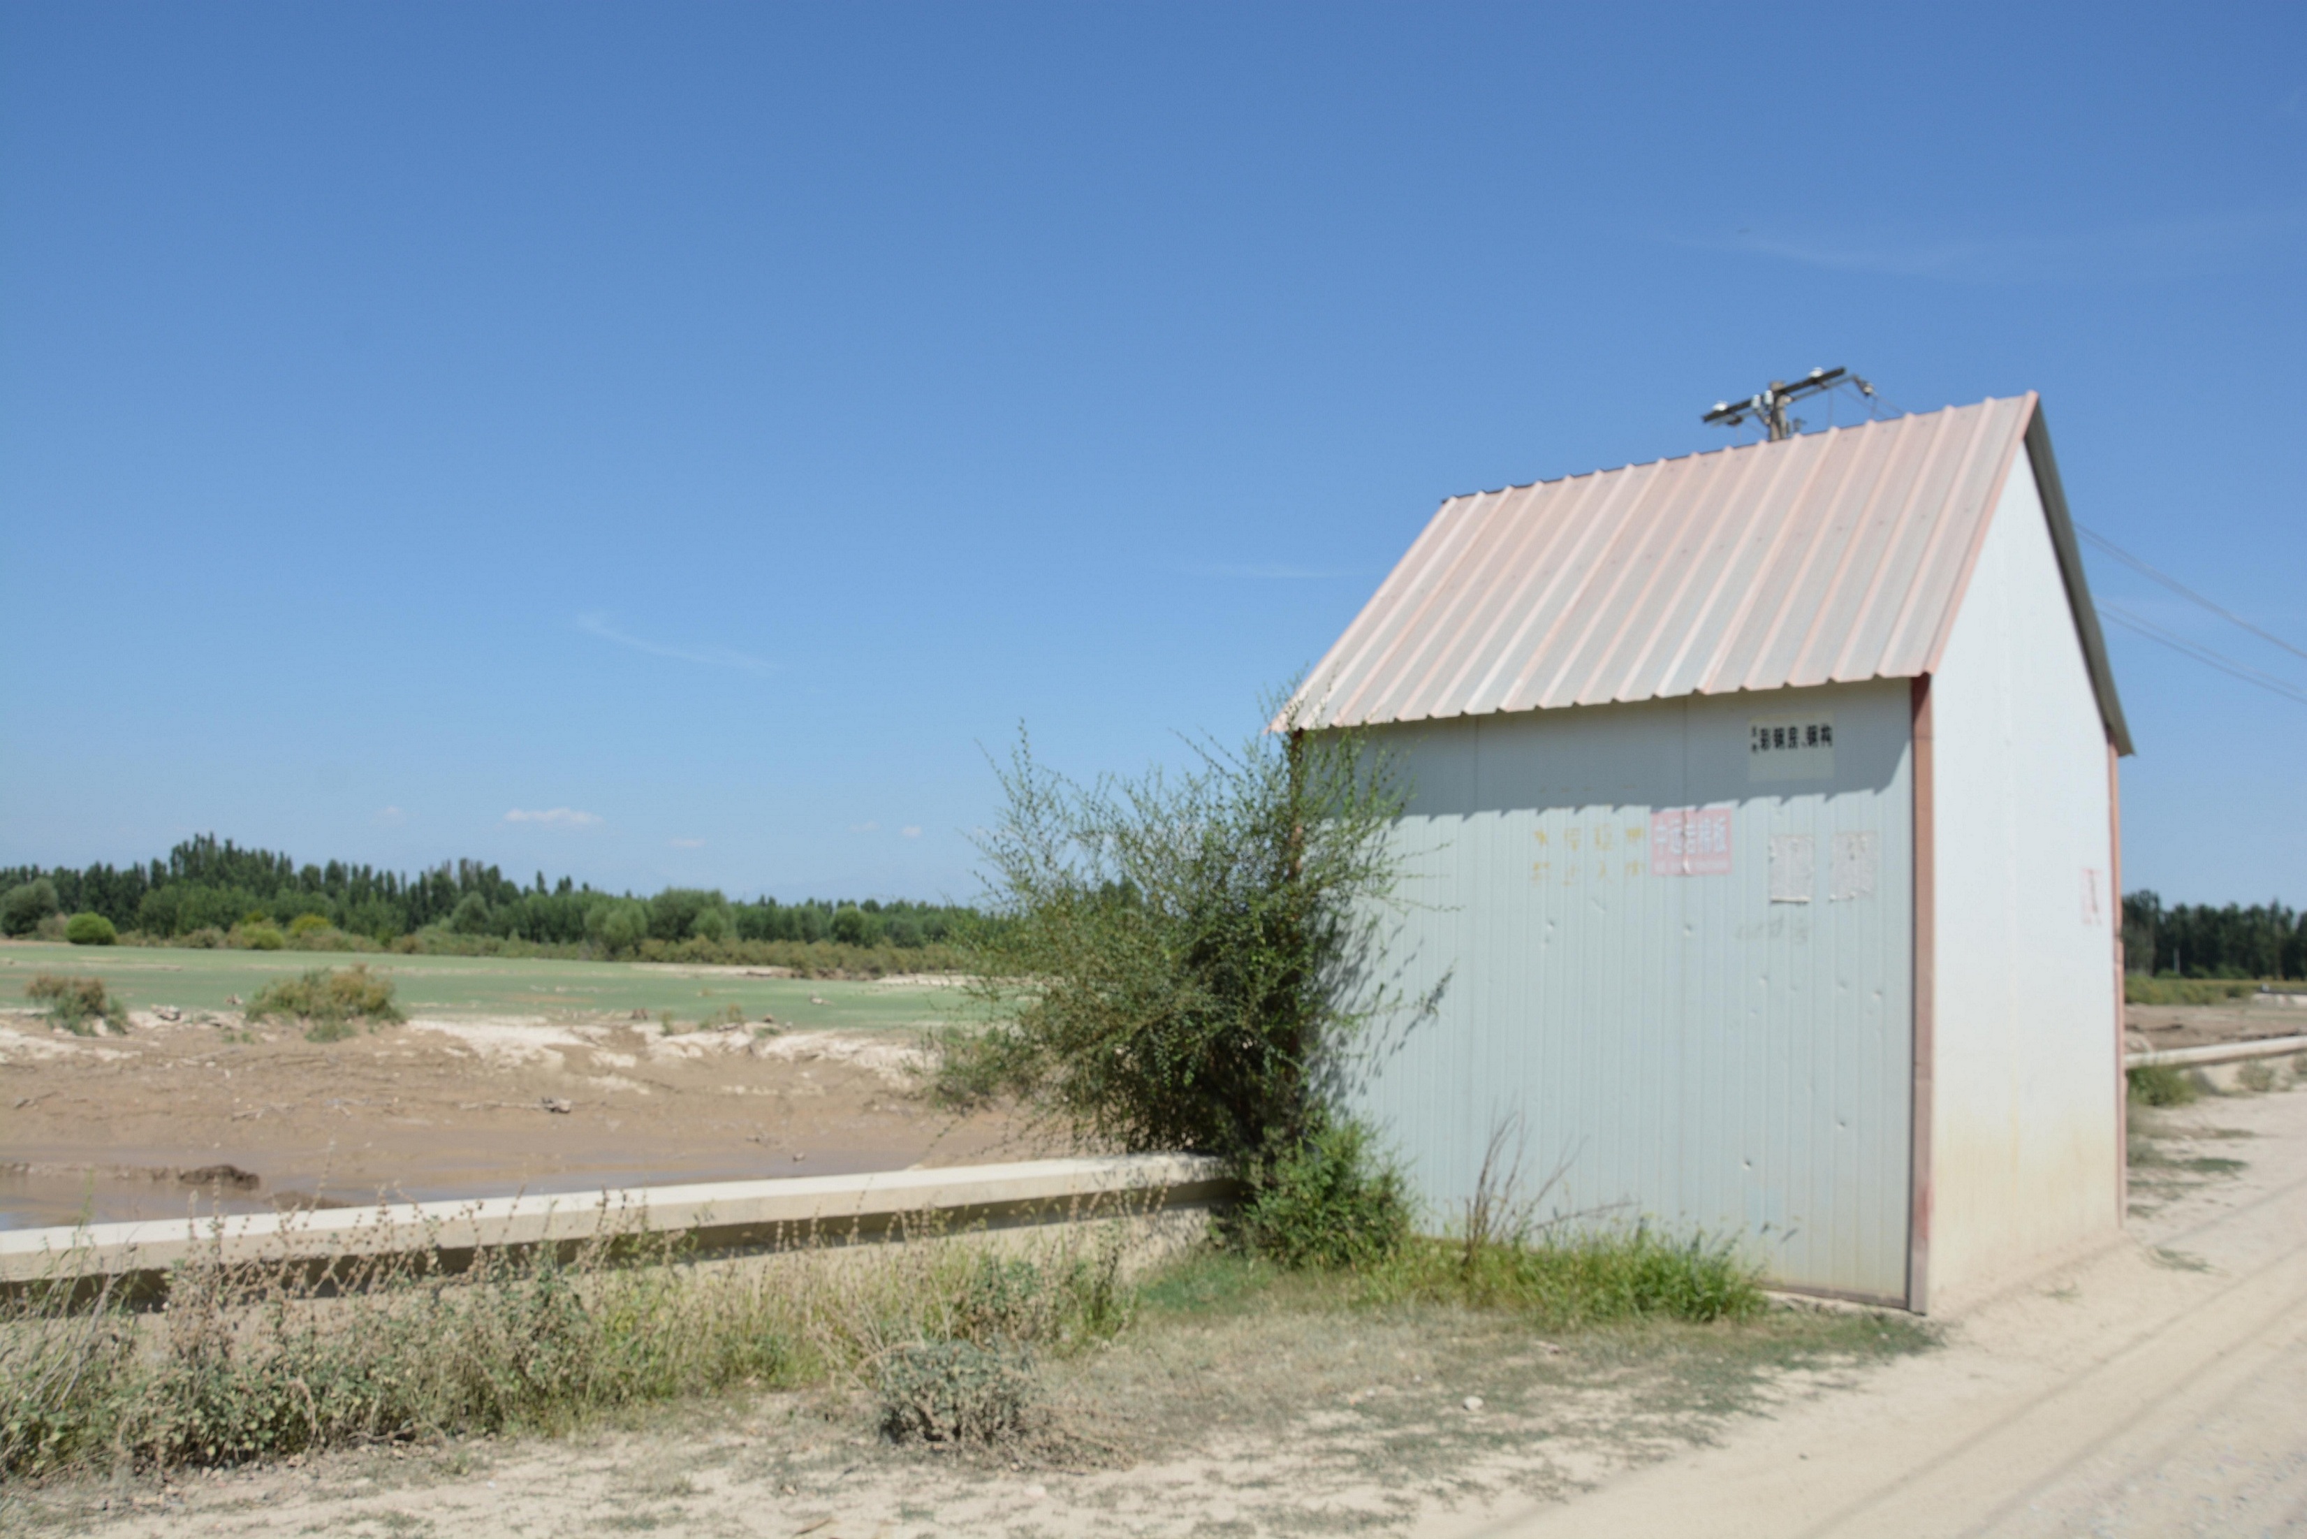
<instances>
[{"instance_id":1,"label":"pale blue-grey ribbed metal side wall of the shed, under the eave","mask_svg":"<svg viewBox=\"0 0 2307 1539\"><path fill-rule=\"evenodd\" d=\"M1751 780L1753 718L1820 711L1832 778ZM1375 976L1442 992L1368 1043L1357 1101L1428 1223L1456 1221L1490 1131L1520 1117L1525 1184L1562 1172L1550 1211L1730 1234L1779 1283L1903 1297L1908 685L1458 718L1373 741L1416 787ZM1728 810L1726 872L1652 872L1652 814L1684 808ZM1873 835L1871 893L1834 898L1836 833ZM1809 902L1772 902L1774 835L1813 840Z\"/></svg>"}]
</instances>

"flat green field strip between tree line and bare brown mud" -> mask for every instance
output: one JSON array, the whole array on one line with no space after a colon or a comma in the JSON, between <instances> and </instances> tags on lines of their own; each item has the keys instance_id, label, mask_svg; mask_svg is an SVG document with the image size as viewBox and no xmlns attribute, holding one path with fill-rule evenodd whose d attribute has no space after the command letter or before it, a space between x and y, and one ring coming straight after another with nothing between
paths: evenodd
<instances>
[{"instance_id":1,"label":"flat green field strip between tree line and bare brown mud","mask_svg":"<svg viewBox=\"0 0 2307 1539\"><path fill-rule=\"evenodd\" d=\"M194 951L164 946L0 944L0 1004L23 999L35 974L104 978L129 1008L173 1004L224 1011L272 978L311 967L367 962L394 983L406 1015L630 1015L671 1011L678 1022L720 1015L729 1004L747 1020L764 1013L805 1031L902 1031L957 1020L955 988L909 983L837 983L826 978L745 978L734 969L655 962L535 962L514 958L332 955L311 951ZM824 1004L810 1004L824 999Z\"/></svg>"}]
</instances>

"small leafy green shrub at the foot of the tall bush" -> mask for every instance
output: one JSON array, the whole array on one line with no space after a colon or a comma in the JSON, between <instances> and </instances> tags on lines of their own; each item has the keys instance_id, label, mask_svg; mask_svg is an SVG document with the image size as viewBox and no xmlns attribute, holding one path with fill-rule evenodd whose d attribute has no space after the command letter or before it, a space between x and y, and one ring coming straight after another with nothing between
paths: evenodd
<instances>
[{"instance_id":1,"label":"small leafy green shrub at the foot of the tall bush","mask_svg":"<svg viewBox=\"0 0 2307 1539\"><path fill-rule=\"evenodd\" d=\"M1357 1121L1331 1121L1250 1172L1232 1239L1283 1267L1366 1267L1410 1237L1410 1195Z\"/></svg>"}]
</instances>

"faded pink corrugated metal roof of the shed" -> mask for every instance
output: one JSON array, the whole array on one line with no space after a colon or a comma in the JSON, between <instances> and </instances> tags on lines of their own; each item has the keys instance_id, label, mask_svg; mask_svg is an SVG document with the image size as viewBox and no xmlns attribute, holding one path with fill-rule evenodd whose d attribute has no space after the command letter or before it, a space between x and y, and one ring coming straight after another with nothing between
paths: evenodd
<instances>
[{"instance_id":1,"label":"faded pink corrugated metal roof of the shed","mask_svg":"<svg viewBox=\"0 0 2307 1539\"><path fill-rule=\"evenodd\" d=\"M1929 674L2030 427L2049 457L2030 392L1453 496L1306 676L1297 725ZM2067 588L2129 752L2079 558Z\"/></svg>"}]
</instances>

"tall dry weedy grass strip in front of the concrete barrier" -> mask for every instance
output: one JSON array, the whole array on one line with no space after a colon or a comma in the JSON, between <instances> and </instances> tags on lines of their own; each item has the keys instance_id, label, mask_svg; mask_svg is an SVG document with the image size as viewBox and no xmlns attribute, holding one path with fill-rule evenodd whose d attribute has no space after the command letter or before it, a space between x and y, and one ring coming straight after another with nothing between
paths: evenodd
<instances>
[{"instance_id":1,"label":"tall dry weedy grass strip in front of the concrete barrier","mask_svg":"<svg viewBox=\"0 0 2307 1539\"><path fill-rule=\"evenodd\" d=\"M1024 1405L1010 1380L1031 1354L1064 1357L1128 1317L1117 1225L1001 1255L930 1234L699 1267L678 1239L604 1223L568 1255L482 1251L461 1274L434 1251L314 1274L224 1262L219 1244L171 1274L157 1313L118 1290L90 1299L69 1274L0 1299L0 1481L563 1431L731 1384L881 1387L948 1437L985 1437L1008 1428L969 1398L987 1375L948 1352L939 1401L944 1359L925 1345L992 1354L992 1380Z\"/></svg>"}]
</instances>

